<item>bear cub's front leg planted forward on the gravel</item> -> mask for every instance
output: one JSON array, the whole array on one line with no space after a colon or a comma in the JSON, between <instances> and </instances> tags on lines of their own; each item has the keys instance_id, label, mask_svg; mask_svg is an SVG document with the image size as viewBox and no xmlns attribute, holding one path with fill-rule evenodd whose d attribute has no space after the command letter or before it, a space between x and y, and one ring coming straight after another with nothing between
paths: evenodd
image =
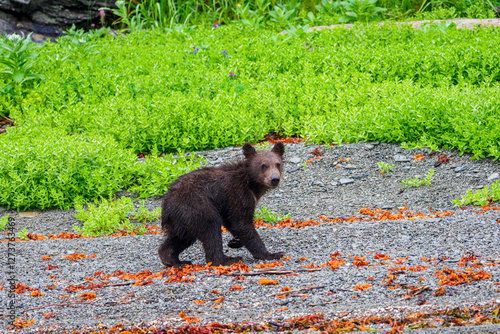
<instances>
[{"instance_id":1,"label":"bear cub's front leg planted forward on the gravel","mask_svg":"<svg viewBox=\"0 0 500 334\"><path fill-rule=\"evenodd\" d=\"M239 226L233 226L230 230L231 234L234 235L233 240L237 240L237 246L243 245L252 256L259 260L276 260L281 259L285 252L271 253L267 250L266 245L257 233L257 230L252 224L240 224ZM230 243L233 241L231 240ZM231 245L229 245L231 247ZM238 248L238 247L234 247Z\"/></svg>"}]
</instances>

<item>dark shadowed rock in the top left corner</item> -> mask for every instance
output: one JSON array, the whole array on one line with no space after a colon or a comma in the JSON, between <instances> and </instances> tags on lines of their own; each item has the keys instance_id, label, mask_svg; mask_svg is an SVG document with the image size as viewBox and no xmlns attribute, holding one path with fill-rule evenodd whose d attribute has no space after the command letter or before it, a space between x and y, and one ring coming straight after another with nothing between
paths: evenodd
<instances>
[{"instance_id":1,"label":"dark shadowed rock in the top left corner","mask_svg":"<svg viewBox=\"0 0 500 334\"><path fill-rule=\"evenodd\" d=\"M101 7L115 7L114 1L0 0L0 34L32 32L35 42L43 42L60 36L72 24L98 23Z\"/></svg>"}]
</instances>

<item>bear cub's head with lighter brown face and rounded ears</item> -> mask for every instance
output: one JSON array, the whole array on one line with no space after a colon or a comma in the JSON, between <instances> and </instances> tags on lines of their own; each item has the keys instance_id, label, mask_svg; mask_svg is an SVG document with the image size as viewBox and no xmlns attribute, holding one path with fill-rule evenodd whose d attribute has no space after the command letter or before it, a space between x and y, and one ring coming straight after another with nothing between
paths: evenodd
<instances>
[{"instance_id":1,"label":"bear cub's head with lighter brown face and rounded ears","mask_svg":"<svg viewBox=\"0 0 500 334\"><path fill-rule=\"evenodd\" d=\"M276 143L271 151L256 151L249 143L243 145L243 154L252 179L269 189L280 184L284 153L285 146L282 142Z\"/></svg>"}]
</instances>

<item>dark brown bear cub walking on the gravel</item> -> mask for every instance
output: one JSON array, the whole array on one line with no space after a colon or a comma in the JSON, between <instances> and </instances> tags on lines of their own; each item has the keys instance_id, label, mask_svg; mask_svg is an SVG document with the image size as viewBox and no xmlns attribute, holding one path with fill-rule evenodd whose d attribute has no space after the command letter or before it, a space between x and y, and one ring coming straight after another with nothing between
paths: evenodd
<instances>
[{"instance_id":1,"label":"dark brown bear cub walking on the gravel","mask_svg":"<svg viewBox=\"0 0 500 334\"><path fill-rule=\"evenodd\" d=\"M163 198L161 225L166 239L158 249L166 266L190 264L179 254L200 240L212 265L230 265L241 257L222 250L224 226L234 239L232 248L245 246L256 259L274 260L283 252L270 253L254 227L257 201L280 184L285 147L278 142L269 152L257 152L246 143L245 159L220 167L205 167L180 176Z\"/></svg>"}]
</instances>

